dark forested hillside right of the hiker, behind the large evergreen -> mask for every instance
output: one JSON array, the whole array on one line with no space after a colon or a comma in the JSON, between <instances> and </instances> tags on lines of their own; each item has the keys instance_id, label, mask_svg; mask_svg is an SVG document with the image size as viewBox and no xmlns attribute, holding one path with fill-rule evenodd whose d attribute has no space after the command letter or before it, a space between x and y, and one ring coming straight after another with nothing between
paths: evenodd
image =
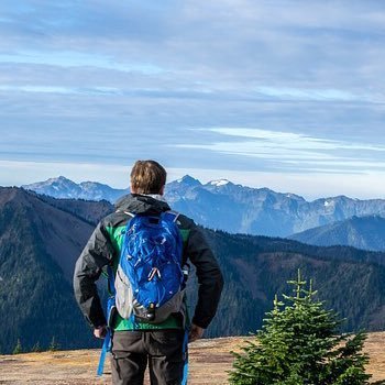
<instances>
[{"instance_id":1,"label":"dark forested hillside right of the hiker, behind the large evergreen","mask_svg":"<svg viewBox=\"0 0 385 385\"><path fill-rule=\"evenodd\" d=\"M385 254L317 248L266 237L207 230L227 285L210 336L255 331L276 293L300 268L326 306L346 318L342 330L385 330Z\"/></svg>"}]
</instances>

